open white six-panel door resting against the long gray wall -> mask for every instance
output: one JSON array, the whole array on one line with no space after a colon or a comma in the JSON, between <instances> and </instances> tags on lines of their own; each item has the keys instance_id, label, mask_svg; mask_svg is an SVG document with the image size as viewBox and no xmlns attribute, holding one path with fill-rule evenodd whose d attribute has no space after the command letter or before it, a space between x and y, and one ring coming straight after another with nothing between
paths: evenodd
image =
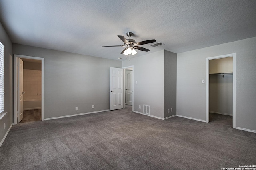
<instances>
[{"instance_id":1,"label":"open white six-panel door resting against the long gray wall","mask_svg":"<svg viewBox=\"0 0 256 170\"><path fill-rule=\"evenodd\" d=\"M124 107L123 69L110 67L110 110Z\"/></svg>"}]
</instances>

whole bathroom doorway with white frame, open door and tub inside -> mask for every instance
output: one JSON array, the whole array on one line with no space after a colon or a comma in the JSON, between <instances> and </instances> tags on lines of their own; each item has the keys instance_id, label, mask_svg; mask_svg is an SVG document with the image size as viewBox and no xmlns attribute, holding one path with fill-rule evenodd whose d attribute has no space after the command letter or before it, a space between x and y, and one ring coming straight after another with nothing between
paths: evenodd
<instances>
[{"instance_id":1,"label":"whole bathroom doorway with white frame, open door and tub inside","mask_svg":"<svg viewBox=\"0 0 256 170\"><path fill-rule=\"evenodd\" d=\"M44 120L44 58L14 55L14 125L38 120Z\"/></svg>"}]
</instances>

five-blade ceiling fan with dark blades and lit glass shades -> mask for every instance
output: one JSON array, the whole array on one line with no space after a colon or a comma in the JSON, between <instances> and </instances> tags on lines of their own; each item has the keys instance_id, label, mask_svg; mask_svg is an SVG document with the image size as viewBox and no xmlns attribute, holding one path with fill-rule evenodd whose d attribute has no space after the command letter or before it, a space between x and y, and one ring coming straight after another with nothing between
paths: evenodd
<instances>
[{"instance_id":1,"label":"five-blade ceiling fan with dark blades and lit glass shades","mask_svg":"<svg viewBox=\"0 0 256 170\"><path fill-rule=\"evenodd\" d=\"M102 46L102 47L126 47L121 52L121 54L124 54L124 55L132 54L132 55L134 55L134 54L137 53L137 51L135 49L138 49L138 50L141 50L141 51L146 51L146 52L149 51L149 49L139 47L138 45L144 45L144 44L156 42L155 39L146 40L146 41L142 41L142 42L135 42L135 40L131 39L131 36L133 35L132 32L127 32L126 35L129 37L128 39L124 38L124 36L118 36L124 42L124 45L112 45L112 46Z\"/></svg>"}]
</instances>

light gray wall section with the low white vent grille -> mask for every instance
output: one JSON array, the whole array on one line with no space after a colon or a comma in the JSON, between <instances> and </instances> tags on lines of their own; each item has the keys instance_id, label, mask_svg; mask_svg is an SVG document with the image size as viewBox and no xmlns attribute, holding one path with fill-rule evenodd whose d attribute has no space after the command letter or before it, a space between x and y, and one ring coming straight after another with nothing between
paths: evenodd
<instances>
[{"instance_id":1,"label":"light gray wall section with the low white vent grille","mask_svg":"<svg viewBox=\"0 0 256 170\"><path fill-rule=\"evenodd\" d=\"M150 105L150 115L164 118L164 50L122 62L123 67L132 65L134 111L143 113L143 104Z\"/></svg>"}]
</instances>

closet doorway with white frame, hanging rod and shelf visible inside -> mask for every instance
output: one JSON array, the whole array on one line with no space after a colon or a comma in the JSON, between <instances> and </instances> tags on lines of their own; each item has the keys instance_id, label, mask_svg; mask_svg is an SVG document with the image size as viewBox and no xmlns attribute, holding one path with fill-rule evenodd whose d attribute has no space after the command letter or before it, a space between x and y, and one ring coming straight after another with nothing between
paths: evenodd
<instances>
[{"instance_id":1,"label":"closet doorway with white frame, hanging rod and shelf visible inside","mask_svg":"<svg viewBox=\"0 0 256 170\"><path fill-rule=\"evenodd\" d=\"M235 53L206 58L206 122L211 121L209 114L232 116L236 128Z\"/></svg>"}]
</instances>

